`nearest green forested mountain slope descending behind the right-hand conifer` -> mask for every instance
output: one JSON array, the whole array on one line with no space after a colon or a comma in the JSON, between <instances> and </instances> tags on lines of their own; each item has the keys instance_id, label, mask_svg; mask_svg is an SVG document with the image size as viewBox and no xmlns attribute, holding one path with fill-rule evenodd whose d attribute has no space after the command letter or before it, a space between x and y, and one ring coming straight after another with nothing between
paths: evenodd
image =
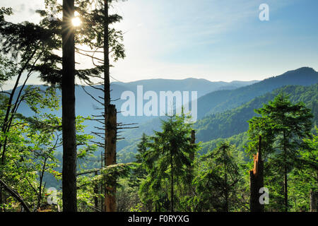
<instances>
[{"instance_id":1,"label":"nearest green forested mountain slope descending behind the right-hand conifer","mask_svg":"<svg viewBox=\"0 0 318 226\"><path fill-rule=\"evenodd\" d=\"M247 131L247 121L257 115L254 109L263 107L264 103L273 100L278 93L290 95L292 102L304 102L312 109L314 123L318 117L318 83L310 86L287 85L278 88L271 93L266 93L247 102L240 107L230 109L222 113L211 114L194 124L198 141L211 141L217 138L228 138L235 134Z\"/></svg>"}]
</instances>

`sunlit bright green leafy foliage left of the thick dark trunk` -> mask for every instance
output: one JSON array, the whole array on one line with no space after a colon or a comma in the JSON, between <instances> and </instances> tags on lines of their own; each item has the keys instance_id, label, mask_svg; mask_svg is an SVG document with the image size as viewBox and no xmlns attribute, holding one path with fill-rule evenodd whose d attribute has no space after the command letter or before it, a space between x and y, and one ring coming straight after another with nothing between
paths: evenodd
<instances>
[{"instance_id":1,"label":"sunlit bright green leafy foliage left of the thick dark trunk","mask_svg":"<svg viewBox=\"0 0 318 226\"><path fill-rule=\"evenodd\" d=\"M51 95L54 93L50 92L44 97L31 93L28 97L33 98L41 107L52 108L54 102L47 102L47 98L54 99ZM34 102L28 103L34 106ZM58 163L54 152L60 145L57 133L59 119L38 114L38 109L36 112L36 116L30 118L13 115L10 129L0 132L1 146L6 148L1 156L1 179L25 197L25 201L35 209L45 203L47 187L44 177L46 174L54 175ZM4 112L0 114L0 118L4 119ZM16 208L16 200L8 196L1 205L6 210L12 210Z\"/></svg>"}]
</instances>

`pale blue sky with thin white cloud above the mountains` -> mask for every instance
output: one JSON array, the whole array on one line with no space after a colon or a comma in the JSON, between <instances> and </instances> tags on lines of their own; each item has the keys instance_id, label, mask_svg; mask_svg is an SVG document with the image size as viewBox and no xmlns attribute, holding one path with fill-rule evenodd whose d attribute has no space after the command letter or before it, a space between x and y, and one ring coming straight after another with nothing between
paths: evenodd
<instances>
[{"instance_id":1,"label":"pale blue sky with thin white cloud above the mountains","mask_svg":"<svg viewBox=\"0 0 318 226\"><path fill-rule=\"evenodd\" d=\"M259 19L261 4L269 6L269 20ZM13 8L8 20L37 21L43 0L0 6ZM117 81L252 81L302 66L318 71L317 0L128 0L111 11L123 17L114 26L126 49L111 69Z\"/></svg>"}]
</instances>

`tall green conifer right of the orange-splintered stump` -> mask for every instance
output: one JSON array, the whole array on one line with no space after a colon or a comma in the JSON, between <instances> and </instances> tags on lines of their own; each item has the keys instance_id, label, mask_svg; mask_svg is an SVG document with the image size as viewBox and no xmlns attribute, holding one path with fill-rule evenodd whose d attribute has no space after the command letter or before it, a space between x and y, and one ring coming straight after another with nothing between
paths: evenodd
<instances>
[{"instance_id":1,"label":"tall green conifer right of the orange-splintered stump","mask_svg":"<svg viewBox=\"0 0 318 226\"><path fill-rule=\"evenodd\" d=\"M270 155L277 167L276 171L283 175L283 205L287 212L288 172L299 162L302 139L310 136L312 114L305 104L300 102L294 105L282 93L255 112L261 114L261 117L254 117L249 121L249 133L255 135L255 131L259 131L266 139L266 145L262 145L265 146L265 154Z\"/></svg>"}]
</instances>

